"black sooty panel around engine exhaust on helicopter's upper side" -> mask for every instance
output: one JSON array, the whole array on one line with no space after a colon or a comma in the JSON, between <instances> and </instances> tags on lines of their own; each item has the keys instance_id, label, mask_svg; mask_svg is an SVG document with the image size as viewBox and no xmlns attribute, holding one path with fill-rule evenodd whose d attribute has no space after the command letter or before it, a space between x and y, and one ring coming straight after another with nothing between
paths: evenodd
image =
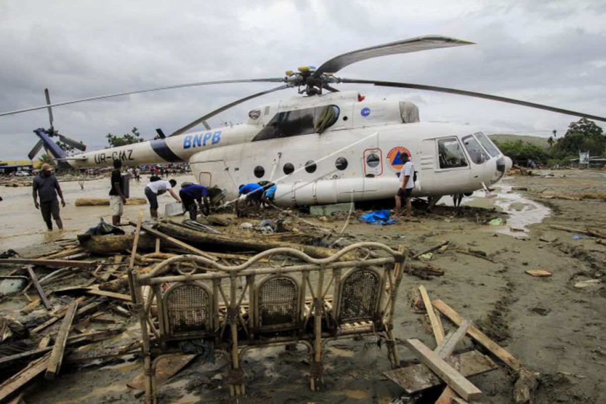
<instances>
[{"instance_id":1,"label":"black sooty panel around engine exhaust on helicopter's upper side","mask_svg":"<svg viewBox=\"0 0 606 404\"><path fill-rule=\"evenodd\" d=\"M335 124L337 119L339 119L339 107L336 105L279 112L253 137L253 142L321 133Z\"/></svg>"}]
</instances>

